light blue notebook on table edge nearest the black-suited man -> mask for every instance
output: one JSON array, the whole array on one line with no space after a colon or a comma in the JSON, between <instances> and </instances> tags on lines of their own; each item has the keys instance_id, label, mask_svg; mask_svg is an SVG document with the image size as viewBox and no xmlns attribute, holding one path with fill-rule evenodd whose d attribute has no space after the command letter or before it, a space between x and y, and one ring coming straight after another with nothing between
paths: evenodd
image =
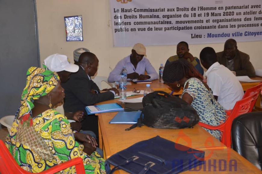
<instances>
[{"instance_id":1,"label":"light blue notebook on table edge nearest the black-suited man","mask_svg":"<svg viewBox=\"0 0 262 174\"><path fill-rule=\"evenodd\" d=\"M117 103L110 103L104 105L94 105L94 106L86 106L85 107L87 114L97 114L97 113L104 113L104 112L117 112L117 111L124 111Z\"/></svg>"}]
</instances>

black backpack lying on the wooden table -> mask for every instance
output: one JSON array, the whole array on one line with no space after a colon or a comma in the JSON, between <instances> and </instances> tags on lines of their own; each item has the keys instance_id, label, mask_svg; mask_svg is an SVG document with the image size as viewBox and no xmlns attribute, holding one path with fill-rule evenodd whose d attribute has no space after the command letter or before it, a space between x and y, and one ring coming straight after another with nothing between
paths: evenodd
<instances>
[{"instance_id":1,"label":"black backpack lying on the wooden table","mask_svg":"<svg viewBox=\"0 0 262 174\"><path fill-rule=\"evenodd\" d=\"M193 127L199 122L199 116L192 106L166 92L149 93L143 98L142 103L144 109L137 124L126 130L142 125L161 129L181 129Z\"/></svg>"}]
</instances>

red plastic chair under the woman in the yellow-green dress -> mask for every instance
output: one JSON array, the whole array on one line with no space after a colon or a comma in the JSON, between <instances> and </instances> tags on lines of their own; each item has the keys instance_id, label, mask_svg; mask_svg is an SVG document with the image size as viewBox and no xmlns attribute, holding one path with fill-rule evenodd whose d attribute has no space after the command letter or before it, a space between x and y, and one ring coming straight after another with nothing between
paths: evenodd
<instances>
[{"instance_id":1,"label":"red plastic chair under the woman in the yellow-green dress","mask_svg":"<svg viewBox=\"0 0 262 174\"><path fill-rule=\"evenodd\" d=\"M57 166L51 167L43 172L42 174L53 174L59 172L63 169L66 169L71 166L76 166L76 173L77 174L85 174L85 169L83 165L83 159L80 157L71 159L67 162L61 163ZM0 173L1 174L30 174L30 172L25 171L22 169L17 162L15 161L14 157L11 155L5 143L0 140Z\"/></svg>"}]
</instances>

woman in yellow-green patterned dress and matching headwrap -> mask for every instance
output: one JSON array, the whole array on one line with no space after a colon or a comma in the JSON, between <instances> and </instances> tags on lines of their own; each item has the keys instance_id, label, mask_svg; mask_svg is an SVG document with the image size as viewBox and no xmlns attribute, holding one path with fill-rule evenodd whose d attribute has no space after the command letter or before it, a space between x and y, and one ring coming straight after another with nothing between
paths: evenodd
<instances>
[{"instance_id":1,"label":"woman in yellow-green patterned dress and matching headwrap","mask_svg":"<svg viewBox=\"0 0 262 174\"><path fill-rule=\"evenodd\" d=\"M31 67L27 85L6 146L26 171L38 173L70 159L81 157L86 173L105 173L104 159L96 153L96 142L87 134L70 129L66 117L52 109L64 98L56 72ZM76 140L84 142L79 145ZM75 173L75 167L60 173Z\"/></svg>"}]
</instances>

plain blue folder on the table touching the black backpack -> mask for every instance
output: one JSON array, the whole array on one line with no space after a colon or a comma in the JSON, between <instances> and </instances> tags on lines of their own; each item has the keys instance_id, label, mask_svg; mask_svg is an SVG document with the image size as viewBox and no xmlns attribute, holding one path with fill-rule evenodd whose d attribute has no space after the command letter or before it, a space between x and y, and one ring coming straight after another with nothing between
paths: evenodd
<instances>
[{"instance_id":1,"label":"plain blue folder on the table touching the black backpack","mask_svg":"<svg viewBox=\"0 0 262 174\"><path fill-rule=\"evenodd\" d=\"M118 112L114 118L109 121L110 124L135 124L142 111L123 111Z\"/></svg>"}]
</instances>

